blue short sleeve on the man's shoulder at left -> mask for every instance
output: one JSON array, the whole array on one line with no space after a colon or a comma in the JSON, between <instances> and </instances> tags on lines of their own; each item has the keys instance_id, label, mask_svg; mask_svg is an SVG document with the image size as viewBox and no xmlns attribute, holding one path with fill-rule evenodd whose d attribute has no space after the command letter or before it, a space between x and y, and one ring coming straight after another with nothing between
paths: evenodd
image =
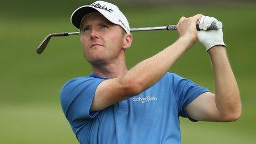
<instances>
[{"instance_id":1,"label":"blue short sleeve on the man's shoulder at left","mask_svg":"<svg viewBox=\"0 0 256 144\"><path fill-rule=\"evenodd\" d=\"M85 119L94 118L99 111L90 113L94 93L104 79L79 77L68 81L60 92L61 107L73 127Z\"/></svg>"}]
</instances>

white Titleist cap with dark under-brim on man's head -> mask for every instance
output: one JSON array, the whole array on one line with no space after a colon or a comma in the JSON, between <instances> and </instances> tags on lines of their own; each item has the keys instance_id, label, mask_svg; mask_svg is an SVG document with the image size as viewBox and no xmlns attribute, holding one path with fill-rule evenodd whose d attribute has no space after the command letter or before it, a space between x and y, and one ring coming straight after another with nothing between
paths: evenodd
<instances>
[{"instance_id":1,"label":"white Titleist cap with dark under-brim on man's head","mask_svg":"<svg viewBox=\"0 0 256 144\"><path fill-rule=\"evenodd\" d=\"M125 15L122 14L117 6L104 1L96 1L89 6L82 6L77 8L71 15L71 23L79 29L83 17L89 13L94 12L101 13L110 22L120 25L127 34L130 34L130 26Z\"/></svg>"}]
</instances>

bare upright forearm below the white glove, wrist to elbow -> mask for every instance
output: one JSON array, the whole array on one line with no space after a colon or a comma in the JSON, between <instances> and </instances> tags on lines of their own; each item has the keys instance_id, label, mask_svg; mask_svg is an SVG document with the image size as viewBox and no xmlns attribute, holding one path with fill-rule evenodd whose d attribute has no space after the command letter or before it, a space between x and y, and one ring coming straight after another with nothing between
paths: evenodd
<instances>
[{"instance_id":1,"label":"bare upright forearm below the white glove, wrist to elbow","mask_svg":"<svg viewBox=\"0 0 256 144\"><path fill-rule=\"evenodd\" d=\"M241 115L241 100L236 78L232 72L226 49L215 46L209 50L215 75L215 104L218 112L227 119Z\"/></svg>"}]
</instances>

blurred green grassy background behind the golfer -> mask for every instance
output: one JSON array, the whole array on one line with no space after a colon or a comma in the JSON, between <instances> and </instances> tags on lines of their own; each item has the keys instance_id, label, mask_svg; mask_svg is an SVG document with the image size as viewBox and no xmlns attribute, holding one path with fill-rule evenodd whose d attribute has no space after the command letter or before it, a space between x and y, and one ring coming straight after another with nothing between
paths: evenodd
<instances>
[{"instance_id":1,"label":"blurred green grassy background behind the golfer","mask_svg":"<svg viewBox=\"0 0 256 144\"><path fill-rule=\"evenodd\" d=\"M180 17L197 13L222 21L243 113L235 122L191 122L181 118L182 143L255 143L256 3L116 3L131 28L176 24ZM59 92L68 79L91 72L79 36L52 38L42 55L36 54L36 48L47 34L76 31L70 15L84 4L90 2L1 1L0 143L78 143L62 113ZM176 31L132 34L134 41L126 52L128 67L157 54L178 38ZM199 42L170 71L214 92L210 58Z\"/></svg>"}]
</instances>

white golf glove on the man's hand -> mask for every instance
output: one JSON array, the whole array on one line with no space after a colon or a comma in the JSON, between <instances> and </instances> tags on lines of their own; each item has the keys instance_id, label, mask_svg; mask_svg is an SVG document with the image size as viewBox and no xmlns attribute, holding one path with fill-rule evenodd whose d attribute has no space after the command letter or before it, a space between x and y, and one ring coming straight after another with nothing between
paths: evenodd
<instances>
[{"instance_id":1,"label":"white golf glove on the man's hand","mask_svg":"<svg viewBox=\"0 0 256 144\"><path fill-rule=\"evenodd\" d=\"M206 51L216 45L226 46L223 41L222 29L205 31L211 26L212 22L218 22L218 20L214 17L202 16L198 23L199 28L201 29L198 31L198 40L205 46Z\"/></svg>"}]
</instances>

